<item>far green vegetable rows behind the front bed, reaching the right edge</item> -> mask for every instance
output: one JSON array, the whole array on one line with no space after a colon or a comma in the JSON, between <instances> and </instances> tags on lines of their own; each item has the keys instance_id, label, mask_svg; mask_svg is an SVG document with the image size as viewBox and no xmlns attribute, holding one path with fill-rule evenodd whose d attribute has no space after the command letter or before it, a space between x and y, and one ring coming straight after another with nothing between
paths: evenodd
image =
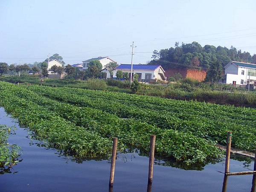
<instances>
[{"instance_id":1,"label":"far green vegetable rows behind the front bed, reaching the right edge","mask_svg":"<svg viewBox=\"0 0 256 192\"><path fill-rule=\"evenodd\" d=\"M140 119L163 129L190 132L197 137L217 141L222 145L226 144L227 131L232 131L234 135L233 147L248 151L255 150L256 124L254 115L256 111L254 109L156 97L151 99L152 97L149 96L131 96L129 94L126 94L126 100L123 98L118 102L116 95L121 97L123 95L121 93L75 88L31 86L27 87L27 89L62 102L100 109L116 114L121 118ZM102 96L100 93L102 93ZM111 98L112 95L113 99ZM137 97L139 97L138 103L145 104L142 106L137 105L135 102ZM130 98L134 102L130 101ZM163 108L168 108L165 107L164 103L169 104L169 110L153 110L152 108L157 108L157 105L148 102L148 99L154 100L156 104ZM226 113L224 113L225 110L227 111ZM244 119L241 119L240 116L244 117Z\"/></svg>"}]
</instances>

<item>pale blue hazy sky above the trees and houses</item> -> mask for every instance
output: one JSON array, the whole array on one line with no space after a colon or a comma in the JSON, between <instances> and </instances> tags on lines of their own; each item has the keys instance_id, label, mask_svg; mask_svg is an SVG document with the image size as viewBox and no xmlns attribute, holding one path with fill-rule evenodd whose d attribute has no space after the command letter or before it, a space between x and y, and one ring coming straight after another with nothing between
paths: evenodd
<instances>
[{"instance_id":1,"label":"pale blue hazy sky above the trees and houses","mask_svg":"<svg viewBox=\"0 0 256 192\"><path fill-rule=\"evenodd\" d=\"M0 0L0 62L109 56L146 64L175 42L256 54L256 0Z\"/></svg>"}]
</instances>

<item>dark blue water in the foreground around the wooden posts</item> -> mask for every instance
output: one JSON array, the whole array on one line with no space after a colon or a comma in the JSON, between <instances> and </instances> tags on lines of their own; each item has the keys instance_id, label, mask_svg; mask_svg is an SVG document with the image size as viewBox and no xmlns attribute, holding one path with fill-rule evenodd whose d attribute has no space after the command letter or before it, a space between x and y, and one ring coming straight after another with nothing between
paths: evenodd
<instances>
[{"instance_id":1,"label":"dark blue water in the foreground around the wooden posts","mask_svg":"<svg viewBox=\"0 0 256 192\"><path fill-rule=\"evenodd\" d=\"M1 192L107 192L109 160L73 160L58 155L55 149L38 147L36 140L30 140L28 132L20 128L0 108L0 124L16 126L15 135L9 142L16 143L22 150L23 161L14 166L15 174L0 175ZM219 192L224 180L224 160L204 166L204 170L184 170L159 164L155 161L152 192ZM253 170L253 161L230 160L230 172ZM222 173L221 173L222 172ZM250 192L252 175L230 176L227 192ZM147 191L148 157L137 153L117 154L114 192Z\"/></svg>"}]
</instances>

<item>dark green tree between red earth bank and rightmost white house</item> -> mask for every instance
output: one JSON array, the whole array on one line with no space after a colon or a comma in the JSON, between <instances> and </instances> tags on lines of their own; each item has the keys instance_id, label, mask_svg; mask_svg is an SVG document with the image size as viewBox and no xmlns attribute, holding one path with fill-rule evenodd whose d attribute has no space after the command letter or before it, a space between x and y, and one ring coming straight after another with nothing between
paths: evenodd
<instances>
[{"instance_id":1,"label":"dark green tree between red earth bank and rightmost white house","mask_svg":"<svg viewBox=\"0 0 256 192\"><path fill-rule=\"evenodd\" d=\"M220 61L215 61L211 64L211 67L206 73L205 81L218 82L222 75L222 65Z\"/></svg>"}]
</instances>

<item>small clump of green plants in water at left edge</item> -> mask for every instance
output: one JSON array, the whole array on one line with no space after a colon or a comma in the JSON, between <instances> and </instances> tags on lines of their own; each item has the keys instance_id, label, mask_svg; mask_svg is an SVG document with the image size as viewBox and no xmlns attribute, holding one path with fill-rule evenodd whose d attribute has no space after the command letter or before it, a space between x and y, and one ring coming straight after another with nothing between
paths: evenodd
<instances>
[{"instance_id":1,"label":"small clump of green plants in water at left edge","mask_svg":"<svg viewBox=\"0 0 256 192\"><path fill-rule=\"evenodd\" d=\"M7 142L9 134L15 134L14 127L0 125L0 174L15 173L12 166L20 162L20 147Z\"/></svg>"}]
</instances>

